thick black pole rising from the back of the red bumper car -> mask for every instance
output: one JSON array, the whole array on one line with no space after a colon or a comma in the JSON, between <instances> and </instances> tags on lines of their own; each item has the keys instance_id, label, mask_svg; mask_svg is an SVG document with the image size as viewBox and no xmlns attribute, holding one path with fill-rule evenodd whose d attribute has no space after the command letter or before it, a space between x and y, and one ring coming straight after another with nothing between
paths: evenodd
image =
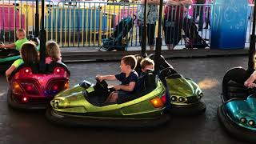
<instances>
[{"instance_id":1,"label":"thick black pole rising from the back of the red bumper car","mask_svg":"<svg viewBox=\"0 0 256 144\"><path fill-rule=\"evenodd\" d=\"M46 30L45 30L45 0L42 0L42 23L40 30L40 62L39 70L41 73L46 71Z\"/></svg>"}]
</instances>

